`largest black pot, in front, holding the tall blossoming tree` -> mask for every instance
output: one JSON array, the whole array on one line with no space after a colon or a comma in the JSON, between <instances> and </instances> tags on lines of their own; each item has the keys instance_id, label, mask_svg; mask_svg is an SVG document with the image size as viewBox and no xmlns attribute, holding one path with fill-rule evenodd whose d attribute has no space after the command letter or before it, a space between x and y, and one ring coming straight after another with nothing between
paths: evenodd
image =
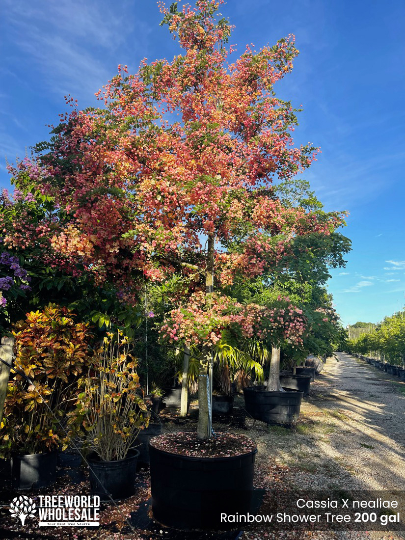
<instances>
[{"instance_id":1,"label":"largest black pot, in front, holding the tall blossoming tree","mask_svg":"<svg viewBox=\"0 0 405 540\"><path fill-rule=\"evenodd\" d=\"M234 529L221 512L251 511L256 453L190 457L150 445L153 518L184 531Z\"/></svg>"}]
</instances>

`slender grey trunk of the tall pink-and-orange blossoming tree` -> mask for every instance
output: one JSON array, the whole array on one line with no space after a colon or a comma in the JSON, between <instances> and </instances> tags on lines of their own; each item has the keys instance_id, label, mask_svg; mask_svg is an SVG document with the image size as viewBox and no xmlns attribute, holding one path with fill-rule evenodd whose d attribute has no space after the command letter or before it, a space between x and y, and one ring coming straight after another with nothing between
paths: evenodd
<instances>
[{"instance_id":1,"label":"slender grey trunk of the tall pink-and-orange blossoming tree","mask_svg":"<svg viewBox=\"0 0 405 540\"><path fill-rule=\"evenodd\" d=\"M214 235L208 237L207 269L205 274L205 294L214 291ZM205 345L201 354L200 373L198 376L198 426L197 438L211 437L211 420L208 410L208 400L211 392L207 392L207 379L212 370L212 347ZM211 409L212 410L212 409Z\"/></svg>"}]
</instances>

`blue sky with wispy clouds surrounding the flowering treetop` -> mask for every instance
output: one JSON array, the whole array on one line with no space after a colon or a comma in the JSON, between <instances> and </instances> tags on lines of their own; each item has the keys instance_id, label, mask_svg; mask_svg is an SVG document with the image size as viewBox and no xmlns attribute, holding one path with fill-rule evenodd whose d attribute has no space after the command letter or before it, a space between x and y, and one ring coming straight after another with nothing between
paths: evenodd
<instances>
[{"instance_id":1,"label":"blue sky with wispy clouds surrounding the flowering treetop","mask_svg":"<svg viewBox=\"0 0 405 540\"><path fill-rule=\"evenodd\" d=\"M170 2L169 2L170 3ZM181 4L181 2L180 2ZM299 143L320 146L305 174L327 210L348 210L353 240L329 291L343 322L378 321L405 300L405 4L402 0L230 0L223 15L243 52L293 33L300 56L275 91L303 106ZM70 93L79 107L118 64L177 53L154 0L3 0L0 183L5 156L48 138ZM232 58L232 57L231 57Z\"/></svg>"}]
</instances>

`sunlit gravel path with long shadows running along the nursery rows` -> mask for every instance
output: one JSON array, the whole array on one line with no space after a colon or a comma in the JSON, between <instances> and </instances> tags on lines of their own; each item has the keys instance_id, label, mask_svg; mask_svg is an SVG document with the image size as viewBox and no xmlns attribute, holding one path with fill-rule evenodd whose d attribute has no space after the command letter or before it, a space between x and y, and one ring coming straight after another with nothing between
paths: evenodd
<instances>
[{"instance_id":1,"label":"sunlit gravel path with long shadows running along the nursery rows","mask_svg":"<svg viewBox=\"0 0 405 540\"><path fill-rule=\"evenodd\" d=\"M340 411L338 436L330 437L323 450L340 455L365 489L403 490L405 383L347 354L336 356L339 362L326 362L320 392L303 411Z\"/></svg>"}]
</instances>

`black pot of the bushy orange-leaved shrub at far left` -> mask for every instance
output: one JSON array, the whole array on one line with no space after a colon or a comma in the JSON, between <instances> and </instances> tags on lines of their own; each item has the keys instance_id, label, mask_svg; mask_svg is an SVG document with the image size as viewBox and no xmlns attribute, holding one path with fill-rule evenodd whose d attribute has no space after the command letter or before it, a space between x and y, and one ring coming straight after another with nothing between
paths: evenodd
<instances>
[{"instance_id":1,"label":"black pot of the bushy orange-leaved shrub at far left","mask_svg":"<svg viewBox=\"0 0 405 540\"><path fill-rule=\"evenodd\" d=\"M58 452L15 454L11 457L11 477L14 489L46 488L56 481Z\"/></svg>"}]
</instances>

